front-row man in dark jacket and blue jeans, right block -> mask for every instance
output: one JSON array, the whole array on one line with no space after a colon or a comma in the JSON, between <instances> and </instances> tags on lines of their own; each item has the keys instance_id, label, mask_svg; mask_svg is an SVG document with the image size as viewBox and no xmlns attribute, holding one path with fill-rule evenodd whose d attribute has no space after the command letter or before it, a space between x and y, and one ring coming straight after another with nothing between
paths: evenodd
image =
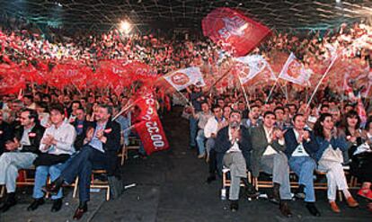
<instances>
[{"instance_id":1,"label":"front-row man in dark jacket and blue jeans, right block","mask_svg":"<svg viewBox=\"0 0 372 222\"><path fill-rule=\"evenodd\" d=\"M313 134L305 129L306 120L303 114L296 114L293 117L293 129L288 129L284 135L287 149L290 169L298 176L299 188L296 197L305 199L306 209L316 217L320 216L316 209L314 192L314 170L316 163L314 161L314 152L316 143Z\"/></svg>"}]
</instances>

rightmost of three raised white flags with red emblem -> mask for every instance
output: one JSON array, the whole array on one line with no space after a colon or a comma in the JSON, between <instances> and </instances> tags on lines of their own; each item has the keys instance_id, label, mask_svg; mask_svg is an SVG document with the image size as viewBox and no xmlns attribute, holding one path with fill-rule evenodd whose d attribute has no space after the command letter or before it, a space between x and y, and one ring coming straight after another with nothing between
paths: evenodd
<instances>
[{"instance_id":1,"label":"rightmost of three raised white flags with red emblem","mask_svg":"<svg viewBox=\"0 0 372 222\"><path fill-rule=\"evenodd\" d=\"M309 78L312 74L313 70L310 68L306 69L292 52L287 62L284 64L284 67L281 69L279 78L294 84L306 85L309 83Z\"/></svg>"}]
</instances>

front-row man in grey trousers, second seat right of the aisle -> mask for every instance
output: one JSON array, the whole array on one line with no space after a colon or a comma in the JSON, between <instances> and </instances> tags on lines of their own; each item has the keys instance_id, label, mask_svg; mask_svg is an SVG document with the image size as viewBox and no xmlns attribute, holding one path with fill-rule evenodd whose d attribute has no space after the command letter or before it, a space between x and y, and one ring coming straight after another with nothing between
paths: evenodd
<instances>
[{"instance_id":1,"label":"front-row man in grey trousers, second seat right of the aisle","mask_svg":"<svg viewBox=\"0 0 372 222\"><path fill-rule=\"evenodd\" d=\"M252 138L252 175L259 177L260 170L272 174L274 203L279 203L280 212L291 217L288 200L292 199L289 183L289 166L283 132L274 128L275 113L266 111L263 124L251 129Z\"/></svg>"}]
</instances>

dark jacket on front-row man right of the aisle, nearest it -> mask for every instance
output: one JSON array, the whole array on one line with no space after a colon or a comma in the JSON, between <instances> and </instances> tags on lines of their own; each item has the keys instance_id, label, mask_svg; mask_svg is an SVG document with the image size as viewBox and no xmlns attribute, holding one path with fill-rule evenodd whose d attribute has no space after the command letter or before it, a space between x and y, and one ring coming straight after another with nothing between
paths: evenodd
<instances>
[{"instance_id":1,"label":"dark jacket on front-row man right of the aisle, nearest it","mask_svg":"<svg viewBox=\"0 0 372 222\"><path fill-rule=\"evenodd\" d=\"M249 135L249 130L246 129L243 125L240 126L241 130L241 139L238 141L238 145L242 154L244 155L245 162L247 167L250 166L250 155L251 155L251 139ZM226 151L233 146L228 137L228 126L220 129L217 132L217 138L215 142L214 149L217 152L217 168L222 170L222 160Z\"/></svg>"}]
</instances>

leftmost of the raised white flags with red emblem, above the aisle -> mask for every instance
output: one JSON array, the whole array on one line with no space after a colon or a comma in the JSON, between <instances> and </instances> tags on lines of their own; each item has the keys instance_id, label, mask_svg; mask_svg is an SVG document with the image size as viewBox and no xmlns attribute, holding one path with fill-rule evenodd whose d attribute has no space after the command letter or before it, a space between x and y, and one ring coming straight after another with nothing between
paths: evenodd
<instances>
[{"instance_id":1,"label":"leftmost of the raised white flags with red emblem, above the aisle","mask_svg":"<svg viewBox=\"0 0 372 222\"><path fill-rule=\"evenodd\" d=\"M168 75L164 75L164 79L177 91L181 91L191 84L196 86L205 85L199 67L188 67L174 71Z\"/></svg>"}]
</instances>

